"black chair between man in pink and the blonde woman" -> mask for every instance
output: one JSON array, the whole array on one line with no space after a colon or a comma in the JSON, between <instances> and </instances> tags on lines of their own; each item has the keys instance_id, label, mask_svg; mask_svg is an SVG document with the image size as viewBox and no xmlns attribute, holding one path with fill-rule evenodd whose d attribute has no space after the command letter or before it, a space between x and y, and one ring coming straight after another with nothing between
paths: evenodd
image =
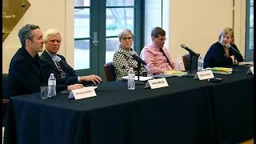
<instances>
[{"instance_id":1,"label":"black chair between man in pink and the blonde woman","mask_svg":"<svg viewBox=\"0 0 256 144\"><path fill-rule=\"evenodd\" d=\"M200 54L199 54L200 55ZM182 56L185 70L190 70L190 54ZM192 55L192 67L191 70L198 70L198 57Z\"/></svg>"}]
</instances>

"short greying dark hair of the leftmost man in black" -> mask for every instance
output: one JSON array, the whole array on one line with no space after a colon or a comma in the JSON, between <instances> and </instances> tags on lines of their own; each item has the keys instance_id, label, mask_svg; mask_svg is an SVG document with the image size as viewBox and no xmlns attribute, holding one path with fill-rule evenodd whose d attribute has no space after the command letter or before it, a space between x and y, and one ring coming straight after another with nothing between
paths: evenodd
<instances>
[{"instance_id":1,"label":"short greying dark hair of the leftmost man in black","mask_svg":"<svg viewBox=\"0 0 256 144\"><path fill-rule=\"evenodd\" d=\"M23 26L22 29L18 31L18 38L22 46L25 46L27 38L34 42L32 31L36 29L40 29L40 27L33 24L26 24L26 26Z\"/></svg>"}]
</instances>

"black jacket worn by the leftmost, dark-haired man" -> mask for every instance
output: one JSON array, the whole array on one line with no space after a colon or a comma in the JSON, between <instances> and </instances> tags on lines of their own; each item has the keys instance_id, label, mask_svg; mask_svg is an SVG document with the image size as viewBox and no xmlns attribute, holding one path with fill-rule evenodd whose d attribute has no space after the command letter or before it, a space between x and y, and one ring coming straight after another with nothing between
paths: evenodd
<instances>
[{"instance_id":1,"label":"black jacket worn by the leftmost, dark-haired man","mask_svg":"<svg viewBox=\"0 0 256 144\"><path fill-rule=\"evenodd\" d=\"M10 61L7 97L38 93L40 86L46 86L43 79L39 55L32 58L22 46Z\"/></svg>"}]
</instances>

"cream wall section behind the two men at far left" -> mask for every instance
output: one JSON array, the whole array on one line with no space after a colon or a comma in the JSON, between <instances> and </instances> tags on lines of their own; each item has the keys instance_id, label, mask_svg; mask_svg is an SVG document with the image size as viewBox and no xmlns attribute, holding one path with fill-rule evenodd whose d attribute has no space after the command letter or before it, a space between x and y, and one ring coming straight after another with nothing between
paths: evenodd
<instances>
[{"instance_id":1,"label":"cream wall section behind the two men at far left","mask_svg":"<svg viewBox=\"0 0 256 144\"><path fill-rule=\"evenodd\" d=\"M40 26L42 33L50 28L56 28L62 31L62 34L66 35L66 2L65 0L28 0L31 4L30 8L26 11L26 14L14 27L14 30L2 43L2 73L6 74L9 70L10 60L21 47L18 39L18 30L26 24L36 24ZM72 0L67 0L72 1ZM65 55L66 38L63 38L60 54Z\"/></svg>"}]
</instances>

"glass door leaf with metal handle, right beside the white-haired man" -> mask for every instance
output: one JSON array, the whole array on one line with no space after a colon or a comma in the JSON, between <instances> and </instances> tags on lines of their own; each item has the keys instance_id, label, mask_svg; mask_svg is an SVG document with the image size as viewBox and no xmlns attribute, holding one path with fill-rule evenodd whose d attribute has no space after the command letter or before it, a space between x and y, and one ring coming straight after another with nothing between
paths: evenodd
<instances>
[{"instance_id":1,"label":"glass door leaf with metal handle, right beside the white-haired man","mask_svg":"<svg viewBox=\"0 0 256 144\"><path fill-rule=\"evenodd\" d=\"M98 0L74 0L74 70L98 74Z\"/></svg>"}]
</instances>

